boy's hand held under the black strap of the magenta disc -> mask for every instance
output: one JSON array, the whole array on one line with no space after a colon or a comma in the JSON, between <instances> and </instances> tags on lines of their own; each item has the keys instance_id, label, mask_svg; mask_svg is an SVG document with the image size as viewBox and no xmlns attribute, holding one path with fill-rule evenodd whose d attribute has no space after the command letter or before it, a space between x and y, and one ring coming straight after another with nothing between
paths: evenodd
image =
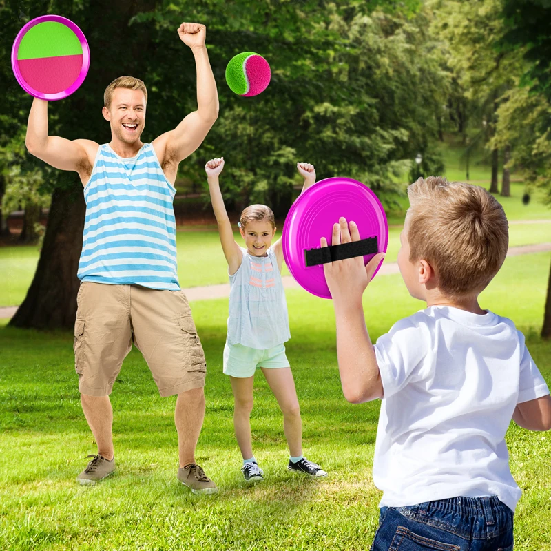
<instances>
[{"instance_id":1,"label":"boy's hand held under the black strap of the magenta disc","mask_svg":"<svg viewBox=\"0 0 551 551\"><path fill-rule=\"evenodd\" d=\"M355 222L350 222L349 225L345 218L340 218L339 223L333 225L333 243L331 245L340 245L341 243L349 243L351 241L360 241L360 232L357 229ZM322 237L320 245L327 247L327 240ZM354 258L345 258L336 262L329 262L323 265L325 280L331 298L336 301L355 302L362 300L368 283L373 277L375 269L384 258L384 253L377 253L364 266L364 257L355 256Z\"/></svg>"}]
</instances>

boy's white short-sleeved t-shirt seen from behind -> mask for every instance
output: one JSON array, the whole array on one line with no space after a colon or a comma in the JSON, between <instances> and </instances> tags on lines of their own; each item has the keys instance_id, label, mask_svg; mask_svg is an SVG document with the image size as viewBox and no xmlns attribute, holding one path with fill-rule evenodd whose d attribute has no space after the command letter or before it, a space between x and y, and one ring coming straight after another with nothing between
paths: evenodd
<instances>
[{"instance_id":1,"label":"boy's white short-sleeved t-shirt seen from behind","mask_svg":"<svg viewBox=\"0 0 551 551\"><path fill-rule=\"evenodd\" d=\"M549 394L524 335L508 318L430 306L373 345L381 402L373 481L400 507L521 490L505 443L514 408Z\"/></svg>"}]
</instances>

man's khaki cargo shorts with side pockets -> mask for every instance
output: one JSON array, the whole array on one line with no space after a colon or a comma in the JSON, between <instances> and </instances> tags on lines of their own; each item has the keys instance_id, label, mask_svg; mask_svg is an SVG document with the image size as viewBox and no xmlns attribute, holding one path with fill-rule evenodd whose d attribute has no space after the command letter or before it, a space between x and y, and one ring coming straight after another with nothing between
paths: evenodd
<instances>
[{"instance_id":1,"label":"man's khaki cargo shorts with side pockets","mask_svg":"<svg viewBox=\"0 0 551 551\"><path fill-rule=\"evenodd\" d=\"M83 282L76 302L74 365L81 393L110 395L132 343L161 396L205 386L205 353L183 291Z\"/></svg>"}]
</instances>

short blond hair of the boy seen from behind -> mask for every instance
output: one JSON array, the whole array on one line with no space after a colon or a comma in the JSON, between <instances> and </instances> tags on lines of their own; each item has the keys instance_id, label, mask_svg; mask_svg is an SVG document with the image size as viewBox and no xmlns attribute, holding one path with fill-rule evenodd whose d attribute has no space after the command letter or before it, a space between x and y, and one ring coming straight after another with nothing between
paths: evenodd
<instances>
[{"instance_id":1,"label":"short blond hair of the boy seen from behind","mask_svg":"<svg viewBox=\"0 0 551 551\"><path fill-rule=\"evenodd\" d=\"M505 260L503 207L486 189L430 176L408 187L410 262L426 260L450 298L480 293Z\"/></svg>"}]
</instances>

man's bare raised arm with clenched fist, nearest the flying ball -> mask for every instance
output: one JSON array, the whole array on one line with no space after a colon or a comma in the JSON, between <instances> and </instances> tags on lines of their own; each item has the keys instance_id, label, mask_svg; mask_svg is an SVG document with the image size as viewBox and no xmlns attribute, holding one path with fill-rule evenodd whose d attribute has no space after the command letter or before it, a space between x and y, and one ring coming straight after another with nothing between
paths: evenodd
<instances>
[{"instance_id":1,"label":"man's bare raised arm with clenched fist, nearest the flying ball","mask_svg":"<svg viewBox=\"0 0 551 551\"><path fill-rule=\"evenodd\" d=\"M170 132L154 140L163 161L176 165L191 155L205 139L218 118L218 91L205 46L207 29L198 23L182 23L178 28L180 40L191 48L197 70L197 110L189 113Z\"/></svg>"}]
</instances>

